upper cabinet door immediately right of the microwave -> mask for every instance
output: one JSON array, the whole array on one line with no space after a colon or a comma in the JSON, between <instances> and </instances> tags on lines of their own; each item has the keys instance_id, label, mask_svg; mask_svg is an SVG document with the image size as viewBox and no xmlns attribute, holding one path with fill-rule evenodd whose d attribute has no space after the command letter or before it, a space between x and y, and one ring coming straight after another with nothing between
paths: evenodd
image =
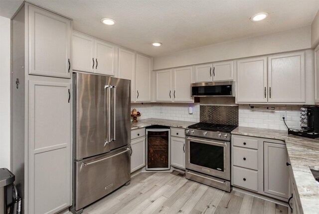
<instances>
[{"instance_id":1,"label":"upper cabinet door immediately right of the microwave","mask_svg":"<svg viewBox=\"0 0 319 214\"><path fill-rule=\"evenodd\" d=\"M267 102L267 58L237 61L237 103Z\"/></svg>"}]
</instances>

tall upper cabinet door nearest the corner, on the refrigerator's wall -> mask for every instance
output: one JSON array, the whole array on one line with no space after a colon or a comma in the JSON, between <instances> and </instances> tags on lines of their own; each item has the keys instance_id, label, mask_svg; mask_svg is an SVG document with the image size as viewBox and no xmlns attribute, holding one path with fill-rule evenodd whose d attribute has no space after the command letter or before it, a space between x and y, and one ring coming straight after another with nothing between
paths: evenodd
<instances>
[{"instance_id":1,"label":"tall upper cabinet door nearest the corner, on the refrigerator's wall","mask_svg":"<svg viewBox=\"0 0 319 214\"><path fill-rule=\"evenodd\" d=\"M151 63L149 57L136 54L136 101L151 101Z\"/></svg>"}]
</instances>

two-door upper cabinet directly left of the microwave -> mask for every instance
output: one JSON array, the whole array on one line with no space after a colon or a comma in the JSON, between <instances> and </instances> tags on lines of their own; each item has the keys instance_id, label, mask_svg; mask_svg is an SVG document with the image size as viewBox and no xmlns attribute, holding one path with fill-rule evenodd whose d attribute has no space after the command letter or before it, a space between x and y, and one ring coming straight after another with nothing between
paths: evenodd
<instances>
[{"instance_id":1,"label":"two-door upper cabinet directly left of the microwave","mask_svg":"<svg viewBox=\"0 0 319 214\"><path fill-rule=\"evenodd\" d=\"M156 101L193 102L192 66L156 71Z\"/></svg>"}]
</instances>

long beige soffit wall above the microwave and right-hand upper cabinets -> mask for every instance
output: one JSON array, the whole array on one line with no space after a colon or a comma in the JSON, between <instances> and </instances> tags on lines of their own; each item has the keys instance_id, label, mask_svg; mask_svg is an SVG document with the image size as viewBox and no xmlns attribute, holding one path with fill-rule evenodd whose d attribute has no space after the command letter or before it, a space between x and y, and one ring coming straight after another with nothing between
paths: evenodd
<instances>
[{"instance_id":1,"label":"long beige soffit wall above the microwave and right-hand upper cabinets","mask_svg":"<svg viewBox=\"0 0 319 214\"><path fill-rule=\"evenodd\" d=\"M311 26L157 56L153 70L311 48Z\"/></svg>"}]
</instances>

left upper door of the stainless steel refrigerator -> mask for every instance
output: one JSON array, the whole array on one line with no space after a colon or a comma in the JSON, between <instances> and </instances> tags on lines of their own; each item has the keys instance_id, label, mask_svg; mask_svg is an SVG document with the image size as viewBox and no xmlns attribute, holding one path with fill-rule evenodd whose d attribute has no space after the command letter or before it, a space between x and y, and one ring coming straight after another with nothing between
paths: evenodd
<instances>
[{"instance_id":1,"label":"left upper door of the stainless steel refrigerator","mask_svg":"<svg viewBox=\"0 0 319 214\"><path fill-rule=\"evenodd\" d=\"M107 81L106 76L73 74L73 152L74 159L109 152L107 142Z\"/></svg>"}]
</instances>

